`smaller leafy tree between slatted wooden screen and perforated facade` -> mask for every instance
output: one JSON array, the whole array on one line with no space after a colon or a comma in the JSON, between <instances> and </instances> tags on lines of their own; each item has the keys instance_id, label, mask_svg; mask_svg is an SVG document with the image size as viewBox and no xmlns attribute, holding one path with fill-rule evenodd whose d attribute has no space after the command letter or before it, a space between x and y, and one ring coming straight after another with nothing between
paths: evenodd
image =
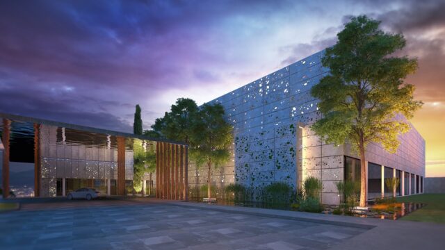
<instances>
[{"instance_id":1,"label":"smaller leafy tree between slatted wooden screen and perforated facade","mask_svg":"<svg viewBox=\"0 0 445 250\"><path fill-rule=\"evenodd\" d=\"M224 108L219 103L201 106L192 124L190 156L197 167L207 166L207 197L211 198L211 168L229 160L232 126L225 122Z\"/></svg>"}]
</instances>

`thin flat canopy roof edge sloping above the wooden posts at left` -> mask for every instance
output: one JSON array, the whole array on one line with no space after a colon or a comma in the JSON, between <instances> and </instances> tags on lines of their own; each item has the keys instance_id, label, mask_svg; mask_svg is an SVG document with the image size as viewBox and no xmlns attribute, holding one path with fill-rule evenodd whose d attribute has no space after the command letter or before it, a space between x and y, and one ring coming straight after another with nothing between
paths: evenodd
<instances>
[{"instance_id":1,"label":"thin flat canopy roof edge sloping above the wooden posts at left","mask_svg":"<svg viewBox=\"0 0 445 250\"><path fill-rule=\"evenodd\" d=\"M125 138L137 138L140 140L151 140L154 142L168 142L171 144L179 144L179 145L186 145L188 146L188 144L184 143L184 142L178 142L175 140L167 140L167 139L161 139L161 138L151 138L145 135L135 135L132 133L124 133L124 132L119 132L119 131L110 131L107 129L102 129L102 128L93 128L90 126L81 126L81 125L76 125L76 124L68 124L65 122L54 122L51 120L47 120L47 119L40 119L40 118L34 118L34 117L25 117L22 115L13 115L13 114L8 114L8 113L1 113L0 112L0 117L4 118L4 119L11 119L11 120L15 120L15 121L19 121L19 122L29 122L29 123L35 123L35 124L44 124L44 125L50 125L50 126L58 126L58 127L63 127L63 128L72 128L75 130L79 130L79 131L86 131L86 132L92 132L92 133L102 133L102 134L106 134L106 135L115 135L115 136L122 136Z\"/></svg>"}]
</instances>

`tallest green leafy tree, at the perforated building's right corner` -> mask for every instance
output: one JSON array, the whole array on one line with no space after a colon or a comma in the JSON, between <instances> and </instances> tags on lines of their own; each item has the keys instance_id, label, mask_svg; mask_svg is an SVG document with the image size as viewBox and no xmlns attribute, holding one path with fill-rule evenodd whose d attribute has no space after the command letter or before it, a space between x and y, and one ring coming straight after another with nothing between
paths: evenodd
<instances>
[{"instance_id":1,"label":"tallest green leafy tree, at the perforated building's right corner","mask_svg":"<svg viewBox=\"0 0 445 250\"><path fill-rule=\"evenodd\" d=\"M366 16L351 18L321 60L330 74L311 90L323 115L312 130L327 143L348 142L359 153L359 206L366 206L366 145L375 142L396 152L398 135L410 129L406 119L423 104L414 100L414 86L404 83L416 71L416 59L394 55L405 47L405 38L384 33L379 25Z\"/></svg>"}]
</instances>

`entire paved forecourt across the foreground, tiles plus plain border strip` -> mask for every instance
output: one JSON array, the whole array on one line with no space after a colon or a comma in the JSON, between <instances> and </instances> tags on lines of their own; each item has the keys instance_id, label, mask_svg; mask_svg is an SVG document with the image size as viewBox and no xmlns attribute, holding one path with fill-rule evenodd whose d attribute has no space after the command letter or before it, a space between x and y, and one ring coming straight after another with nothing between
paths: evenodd
<instances>
[{"instance_id":1,"label":"entire paved forecourt across the foreground, tiles plus plain border strip","mask_svg":"<svg viewBox=\"0 0 445 250\"><path fill-rule=\"evenodd\" d=\"M445 232L444 224L160 199L18 201L20 210L0 213L0 249L442 249Z\"/></svg>"}]
</instances>

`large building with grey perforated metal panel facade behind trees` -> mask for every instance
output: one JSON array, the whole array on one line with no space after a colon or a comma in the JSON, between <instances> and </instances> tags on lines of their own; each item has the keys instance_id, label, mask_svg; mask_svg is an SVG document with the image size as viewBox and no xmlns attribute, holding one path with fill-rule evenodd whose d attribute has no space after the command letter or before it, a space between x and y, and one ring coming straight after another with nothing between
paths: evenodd
<instances>
[{"instance_id":1,"label":"large building with grey perforated metal panel facade behind trees","mask_svg":"<svg viewBox=\"0 0 445 250\"><path fill-rule=\"evenodd\" d=\"M240 183L259 191L285 182L296 189L307 176L315 176L323 182L322 203L339 203L335 183L359 180L360 161L349 145L325 144L310 129L321 114L309 90L329 74L322 56L320 51L209 101L224 106L234 127L233 158L213 170L211 183ZM385 186L385 178L391 177L401 180L397 195L423 192L425 140L413 126L400 140L394 154L379 144L367 148L369 199L391 195ZM190 166L188 176L191 186L207 183L204 169Z\"/></svg>"}]
</instances>

